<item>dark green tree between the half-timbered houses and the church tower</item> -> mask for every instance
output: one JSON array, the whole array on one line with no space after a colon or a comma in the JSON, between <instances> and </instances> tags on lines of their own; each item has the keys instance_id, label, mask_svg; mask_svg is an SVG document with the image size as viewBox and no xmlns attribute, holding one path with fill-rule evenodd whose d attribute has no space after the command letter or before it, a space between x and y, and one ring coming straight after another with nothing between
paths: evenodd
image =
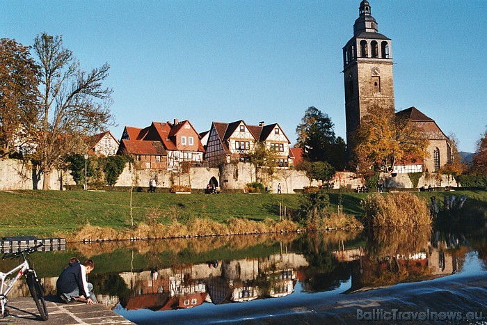
<instances>
[{"instance_id":1,"label":"dark green tree between the half-timbered houses and the church tower","mask_svg":"<svg viewBox=\"0 0 487 325\"><path fill-rule=\"evenodd\" d=\"M336 169L343 170L345 142L335 136L334 127L326 113L311 106L296 127L296 146L303 148L305 157L310 161L328 161Z\"/></svg>"}]
</instances>

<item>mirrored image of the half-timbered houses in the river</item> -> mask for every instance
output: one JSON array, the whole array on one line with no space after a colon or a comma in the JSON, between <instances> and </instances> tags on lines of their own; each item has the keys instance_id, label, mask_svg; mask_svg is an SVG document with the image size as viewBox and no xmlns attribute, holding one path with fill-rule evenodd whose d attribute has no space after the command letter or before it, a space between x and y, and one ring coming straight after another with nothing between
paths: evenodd
<instances>
[{"instance_id":1,"label":"mirrored image of the half-timbered houses in the river","mask_svg":"<svg viewBox=\"0 0 487 325\"><path fill-rule=\"evenodd\" d=\"M296 285L296 268L307 265L302 255L289 253L122 273L134 296L121 303L127 309L169 310L191 308L205 301L220 304L286 296Z\"/></svg>"}]
</instances>

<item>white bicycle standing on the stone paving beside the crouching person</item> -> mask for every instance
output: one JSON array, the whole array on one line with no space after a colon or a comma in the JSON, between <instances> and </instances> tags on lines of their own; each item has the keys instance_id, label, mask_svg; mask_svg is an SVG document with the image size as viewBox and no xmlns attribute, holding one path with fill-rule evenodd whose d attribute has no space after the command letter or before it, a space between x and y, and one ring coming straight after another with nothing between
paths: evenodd
<instances>
[{"instance_id":1,"label":"white bicycle standing on the stone paving beside the crouching person","mask_svg":"<svg viewBox=\"0 0 487 325\"><path fill-rule=\"evenodd\" d=\"M35 301L35 306L40 312L40 318L43 320L47 320L49 315L47 314L46 303L44 301L44 291L40 285L39 279L37 274L35 274L34 268L29 264L29 254L34 253L40 248L43 244L35 245L31 248L24 248L24 250L15 252L15 253L5 253L1 257L2 260L6 258L17 258L22 255L24 262L20 263L17 267L11 269L7 273L0 272L0 280L1 280L1 287L0 287L0 305L1 305L1 317L7 317L9 315L8 310L6 309L7 306L7 294L12 290L15 283L25 275L27 285L29 286L29 290L31 292L31 296ZM15 274L16 271L19 271L17 275L13 278L8 278Z\"/></svg>"}]
</instances>

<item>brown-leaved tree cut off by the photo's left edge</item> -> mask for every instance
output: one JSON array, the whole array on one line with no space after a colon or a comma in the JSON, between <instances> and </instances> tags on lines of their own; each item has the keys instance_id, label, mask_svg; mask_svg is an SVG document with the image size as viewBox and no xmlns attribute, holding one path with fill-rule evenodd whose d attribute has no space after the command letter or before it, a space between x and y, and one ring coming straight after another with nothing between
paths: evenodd
<instances>
[{"instance_id":1,"label":"brown-leaved tree cut off by the photo's left edge","mask_svg":"<svg viewBox=\"0 0 487 325\"><path fill-rule=\"evenodd\" d=\"M39 109L37 72L29 47L0 40L0 158L31 143Z\"/></svg>"}]
</instances>

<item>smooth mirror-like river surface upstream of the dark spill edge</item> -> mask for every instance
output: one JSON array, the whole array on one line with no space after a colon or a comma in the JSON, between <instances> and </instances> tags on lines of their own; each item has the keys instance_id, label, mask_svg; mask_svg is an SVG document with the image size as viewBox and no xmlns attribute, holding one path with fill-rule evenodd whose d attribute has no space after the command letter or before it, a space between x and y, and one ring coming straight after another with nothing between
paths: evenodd
<instances>
[{"instance_id":1,"label":"smooth mirror-like river surface upstream of the dark spill edge","mask_svg":"<svg viewBox=\"0 0 487 325\"><path fill-rule=\"evenodd\" d=\"M245 302L429 280L462 271L473 250L477 267L487 269L484 234L485 228L468 237L422 228L202 237L82 244L33 257L47 294L56 293L57 275L71 256L92 258L97 299L137 319L138 310L255 306ZM25 285L17 288L19 296L26 292Z\"/></svg>"}]
</instances>

